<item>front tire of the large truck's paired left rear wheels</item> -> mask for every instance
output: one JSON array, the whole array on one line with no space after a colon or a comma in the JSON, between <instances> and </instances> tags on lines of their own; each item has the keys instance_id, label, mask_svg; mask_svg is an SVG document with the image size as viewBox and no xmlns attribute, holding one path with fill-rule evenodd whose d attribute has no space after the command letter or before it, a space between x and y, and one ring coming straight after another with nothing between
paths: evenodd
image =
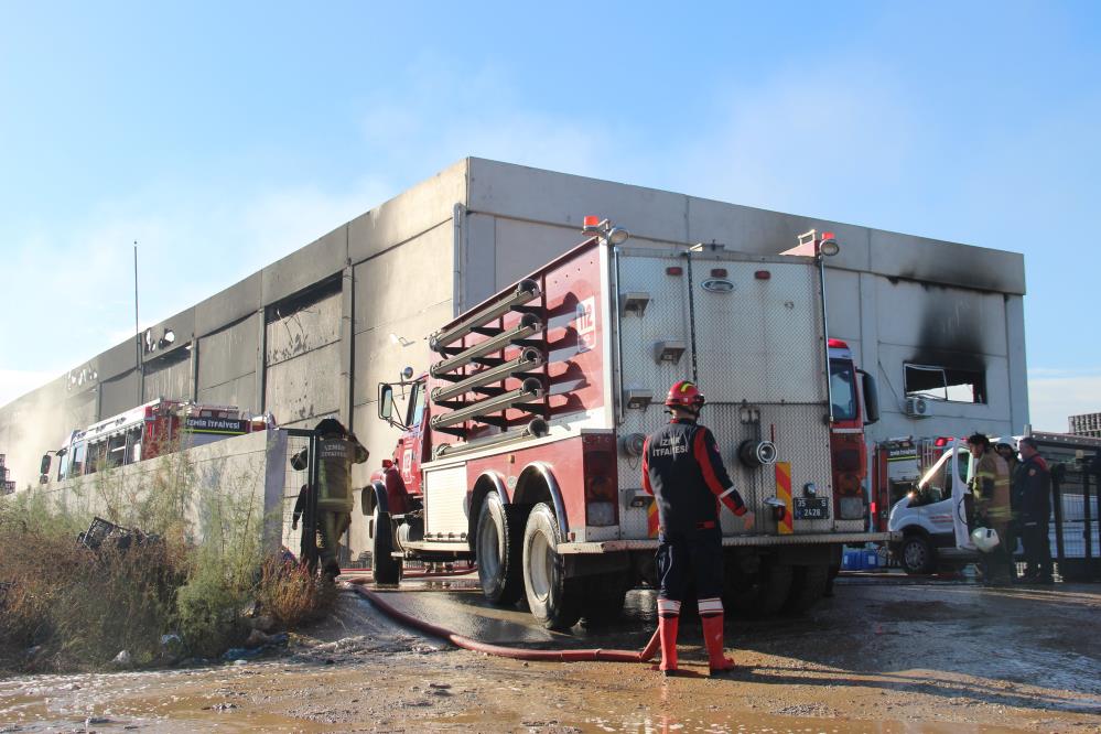
<instances>
[{"instance_id":1,"label":"front tire of the large truck's paired left rear wheels","mask_svg":"<svg viewBox=\"0 0 1101 734\"><path fill-rule=\"evenodd\" d=\"M515 604L523 594L520 571L522 521L507 512L500 497L486 495L478 512L475 551L482 593L494 604Z\"/></svg>"}]
</instances>

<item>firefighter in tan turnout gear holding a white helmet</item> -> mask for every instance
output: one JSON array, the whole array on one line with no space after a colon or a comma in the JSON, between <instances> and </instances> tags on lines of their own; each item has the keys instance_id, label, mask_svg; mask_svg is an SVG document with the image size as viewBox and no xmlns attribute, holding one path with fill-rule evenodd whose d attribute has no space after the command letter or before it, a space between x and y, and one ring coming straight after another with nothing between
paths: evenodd
<instances>
[{"instance_id":1,"label":"firefighter in tan turnout gear holding a white helmet","mask_svg":"<svg viewBox=\"0 0 1101 734\"><path fill-rule=\"evenodd\" d=\"M974 527L992 528L1001 540L997 547L982 554L980 564L983 583L1001 586L1016 576L1013 569L1010 537L1010 468L1005 460L990 446L990 439L982 433L968 436L968 449L975 460L971 477L971 494L974 497Z\"/></svg>"}]
</instances>

